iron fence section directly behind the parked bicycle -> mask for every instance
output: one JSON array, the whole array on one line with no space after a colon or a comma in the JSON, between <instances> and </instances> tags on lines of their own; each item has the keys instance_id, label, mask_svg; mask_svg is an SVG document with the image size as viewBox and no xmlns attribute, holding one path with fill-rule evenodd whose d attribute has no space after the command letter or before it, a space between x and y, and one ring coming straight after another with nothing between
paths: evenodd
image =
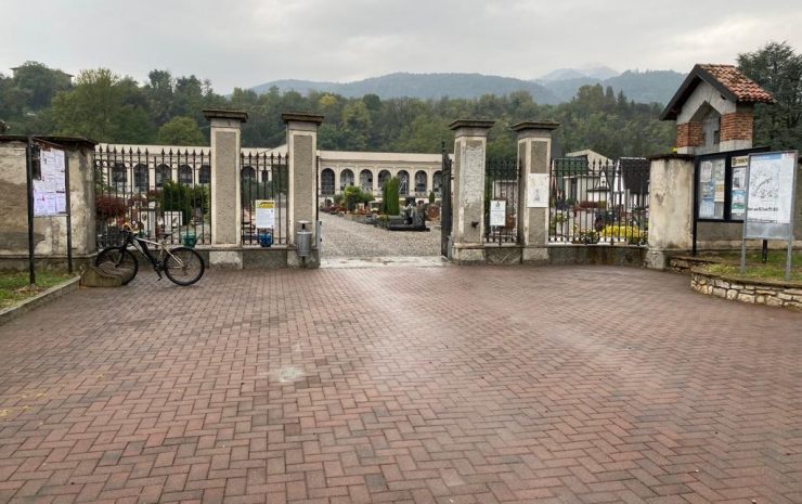
<instances>
[{"instance_id":1,"label":"iron fence section directly behind the parked bicycle","mask_svg":"<svg viewBox=\"0 0 802 504\"><path fill-rule=\"evenodd\" d=\"M98 248L117 245L121 225L186 245L211 243L211 161L204 151L95 151Z\"/></svg>"}]
</instances>

